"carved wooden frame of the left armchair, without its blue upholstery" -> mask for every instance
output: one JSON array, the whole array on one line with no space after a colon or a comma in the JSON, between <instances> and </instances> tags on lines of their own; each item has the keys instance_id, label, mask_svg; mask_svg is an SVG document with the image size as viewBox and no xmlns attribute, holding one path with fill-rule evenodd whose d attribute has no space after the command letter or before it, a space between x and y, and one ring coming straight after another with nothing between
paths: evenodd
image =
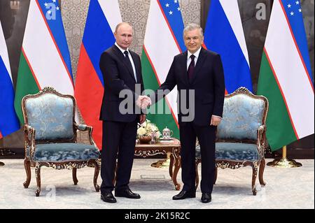
<instances>
[{"instance_id":1,"label":"carved wooden frame of the left armchair, without its blue upholstery","mask_svg":"<svg viewBox=\"0 0 315 223\"><path fill-rule=\"evenodd\" d=\"M36 140L35 141L35 129L28 124L28 119L27 119L27 113L26 113L26 108L25 108L25 101L29 98L38 98L39 96L43 94L56 94L57 96L61 96L64 98L71 98L73 101L73 138L69 140L54 140L54 141L41 141L41 140ZM36 144L42 144L42 143L77 143L77 134L76 131L88 131L89 134L89 141L91 145L96 146L92 139L92 127L87 126L85 124L76 124L74 118L75 118L75 110L76 110L76 99L72 95L68 94L60 94L57 92L55 89L52 87L45 87L43 88L40 92L37 94L29 94L27 96L24 96L22 99L22 112L23 112L23 117L25 120L24 124L24 135L25 135L25 161L24 161L24 166L25 166L25 171L27 174L27 180L23 183L25 188L29 187L29 183L31 182L31 167L35 167L35 175L36 175L36 183L37 183L37 188L36 188L36 196L39 196L41 192L41 167L42 166L47 166L47 167L52 167L57 170L62 170L62 169L72 169L72 178L73 178L73 183L74 185L78 184L78 179L76 178L76 171L78 168L83 168L85 166L94 166L94 178L93 178L93 185L94 189L99 192L99 185L97 185L97 178L99 175L99 168L100 168L100 163L99 159L88 159L88 160L69 160L69 161L34 161L33 155L36 150ZM29 148L29 157L27 157L27 148Z\"/></svg>"}]
</instances>

